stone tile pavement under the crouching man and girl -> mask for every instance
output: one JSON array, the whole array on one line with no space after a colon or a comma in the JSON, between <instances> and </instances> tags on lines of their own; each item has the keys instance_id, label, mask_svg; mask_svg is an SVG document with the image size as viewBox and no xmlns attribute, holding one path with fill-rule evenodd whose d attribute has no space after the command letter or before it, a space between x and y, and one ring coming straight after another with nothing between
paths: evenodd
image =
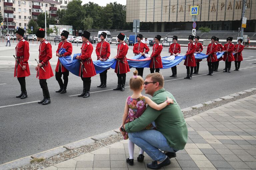
<instances>
[{"instance_id":1,"label":"stone tile pavement under the crouching man and girl","mask_svg":"<svg viewBox=\"0 0 256 170\"><path fill-rule=\"evenodd\" d=\"M256 95L186 118L188 142L165 170L256 169ZM44 170L146 170L126 163L128 140L94 150ZM135 147L134 158L139 148Z\"/></svg>"}]
</instances>

